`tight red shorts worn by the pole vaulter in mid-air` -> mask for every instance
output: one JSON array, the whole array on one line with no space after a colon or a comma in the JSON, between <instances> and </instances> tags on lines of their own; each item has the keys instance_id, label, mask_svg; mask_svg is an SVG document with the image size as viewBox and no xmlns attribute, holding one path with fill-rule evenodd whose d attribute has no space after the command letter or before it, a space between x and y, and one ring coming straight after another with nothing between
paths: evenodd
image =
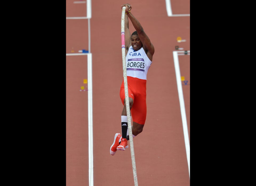
<instances>
[{"instance_id":1,"label":"tight red shorts worn by the pole vaulter in mid-air","mask_svg":"<svg viewBox=\"0 0 256 186\"><path fill-rule=\"evenodd\" d=\"M131 116L133 122L144 125L147 115L147 105L146 105L146 82L145 79L133 78L127 76L128 83L128 94L129 98L133 99L133 107L131 108ZM125 88L122 82L120 88L120 98L122 104L125 101Z\"/></svg>"}]
</instances>

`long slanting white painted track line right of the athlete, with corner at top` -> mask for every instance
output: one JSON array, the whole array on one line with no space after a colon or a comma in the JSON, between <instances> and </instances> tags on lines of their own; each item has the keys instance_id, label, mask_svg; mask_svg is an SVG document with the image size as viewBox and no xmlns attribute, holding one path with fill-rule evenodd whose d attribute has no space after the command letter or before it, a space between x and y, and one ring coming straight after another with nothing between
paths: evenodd
<instances>
[{"instance_id":1,"label":"long slanting white painted track line right of the athlete, with corner at top","mask_svg":"<svg viewBox=\"0 0 256 186\"><path fill-rule=\"evenodd\" d=\"M185 54L185 52L186 52L186 54ZM178 94L179 94L179 104L180 104L180 107L181 107L181 119L182 119L183 133L184 133L184 139L185 139L185 147L186 147L186 153L187 153L187 164L188 164L188 168L189 168L189 178L190 178L189 132L187 130L186 110L185 110L185 103L184 103L182 84L181 84L181 72L180 72L180 69L179 69L179 58L178 58L179 54L181 54L181 55L190 55L190 50L187 50L187 51L173 51L173 60L174 60L176 81L177 81Z\"/></svg>"}]
</instances>

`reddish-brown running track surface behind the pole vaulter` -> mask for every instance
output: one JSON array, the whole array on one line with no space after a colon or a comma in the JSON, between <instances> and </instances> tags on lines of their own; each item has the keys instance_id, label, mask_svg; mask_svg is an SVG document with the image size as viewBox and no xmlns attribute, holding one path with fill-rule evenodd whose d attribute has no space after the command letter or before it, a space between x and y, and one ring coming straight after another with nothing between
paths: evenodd
<instances>
[{"instance_id":1,"label":"reddish-brown running track surface behind the pole vaulter","mask_svg":"<svg viewBox=\"0 0 256 186\"><path fill-rule=\"evenodd\" d=\"M111 156L121 133L123 105L121 5L130 3L155 47L147 75L147 119L133 139L138 185L189 186L190 177L175 76L175 46L190 50L190 17L168 17L165 1L92 1L90 20L93 76L93 181L101 185L134 185L130 148ZM86 3L67 0L67 17L86 16ZM190 14L189 0L171 1L173 14ZM88 50L88 20L66 20L66 53ZM134 28L130 23L130 31ZM186 42L177 42L181 37ZM190 56L179 56L190 135ZM66 185L89 185L87 56L66 57Z\"/></svg>"}]
</instances>

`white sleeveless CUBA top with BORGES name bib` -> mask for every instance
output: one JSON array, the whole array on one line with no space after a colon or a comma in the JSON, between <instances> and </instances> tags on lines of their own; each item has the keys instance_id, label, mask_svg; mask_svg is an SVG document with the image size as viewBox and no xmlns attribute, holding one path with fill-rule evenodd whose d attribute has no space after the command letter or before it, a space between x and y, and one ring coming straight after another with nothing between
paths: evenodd
<instances>
[{"instance_id":1,"label":"white sleeveless CUBA top with BORGES name bib","mask_svg":"<svg viewBox=\"0 0 256 186\"><path fill-rule=\"evenodd\" d=\"M127 76L147 80L147 71L149 70L151 63L152 61L147 57L147 54L142 47L135 51L133 50L133 47L130 46L126 55Z\"/></svg>"}]
</instances>

